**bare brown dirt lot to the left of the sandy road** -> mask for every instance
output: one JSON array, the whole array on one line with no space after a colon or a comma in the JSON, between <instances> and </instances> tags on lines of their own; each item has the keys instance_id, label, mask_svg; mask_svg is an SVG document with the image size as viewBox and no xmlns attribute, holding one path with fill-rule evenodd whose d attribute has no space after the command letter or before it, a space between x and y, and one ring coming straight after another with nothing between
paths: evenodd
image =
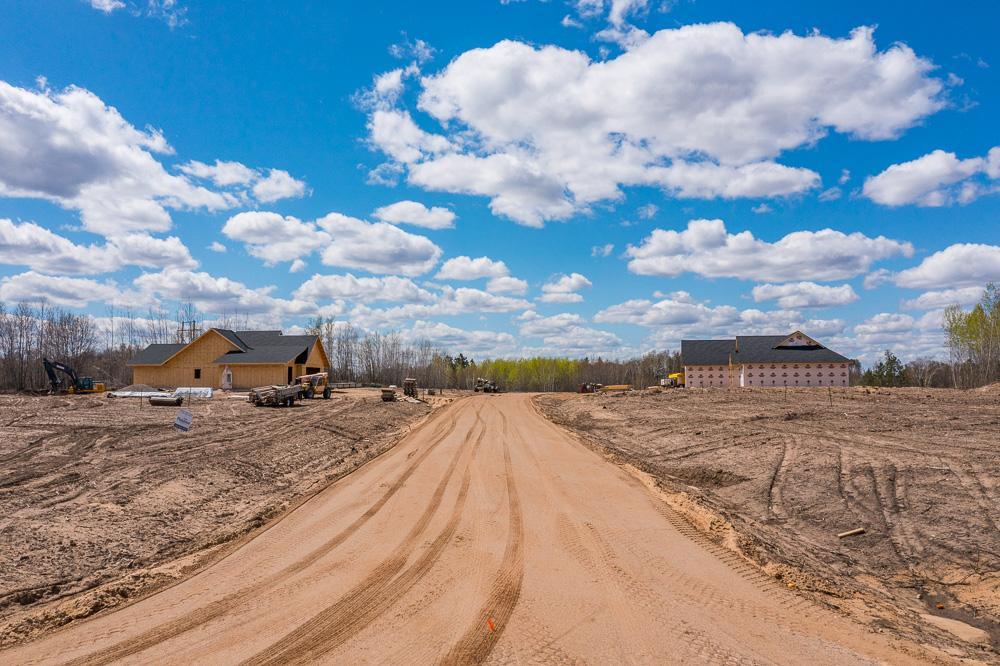
<instances>
[{"instance_id":1,"label":"bare brown dirt lot to the left of the sandy road","mask_svg":"<svg viewBox=\"0 0 1000 666\"><path fill-rule=\"evenodd\" d=\"M0 396L0 647L203 566L430 409L364 390L185 407L189 433L137 398Z\"/></svg>"}]
</instances>

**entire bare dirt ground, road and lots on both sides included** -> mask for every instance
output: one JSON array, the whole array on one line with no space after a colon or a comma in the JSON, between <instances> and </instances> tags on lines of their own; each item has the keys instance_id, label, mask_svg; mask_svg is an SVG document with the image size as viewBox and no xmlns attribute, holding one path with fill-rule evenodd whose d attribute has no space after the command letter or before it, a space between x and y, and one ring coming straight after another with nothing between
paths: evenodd
<instances>
[{"instance_id":1,"label":"entire bare dirt ground, road and lots on both sides included","mask_svg":"<svg viewBox=\"0 0 1000 666\"><path fill-rule=\"evenodd\" d=\"M0 397L0 657L996 659L995 387L676 379Z\"/></svg>"}]
</instances>

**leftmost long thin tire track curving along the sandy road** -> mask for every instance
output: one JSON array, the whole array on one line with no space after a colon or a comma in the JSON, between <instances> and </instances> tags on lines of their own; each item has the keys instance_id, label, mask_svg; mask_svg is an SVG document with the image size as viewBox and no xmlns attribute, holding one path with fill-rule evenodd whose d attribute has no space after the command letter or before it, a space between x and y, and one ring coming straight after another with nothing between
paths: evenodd
<instances>
[{"instance_id":1,"label":"leftmost long thin tire track curving along the sandy road","mask_svg":"<svg viewBox=\"0 0 1000 666\"><path fill-rule=\"evenodd\" d=\"M376 500L368 509L361 514L354 522L335 534L322 545L315 548L305 557L289 564L287 567L277 571L263 580L243 587L235 592L213 601L187 615L183 615L175 620L166 622L160 626L145 631L134 638L122 641L103 650L99 650L78 659L68 662L67 666L98 666L124 659L131 655L147 650L154 645L162 643L171 638L175 638L192 629L205 624L211 620L229 613L232 609L243 603L248 597L255 596L270 588L279 585L282 581L308 568L320 558L328 554L333 549L340 546L349 539L355 532L374 517L392 499L392 497L405 485L406 481L413 476L417 468L420 467L427 457L437 448L438 444L444 441L458 424L457 414L451 414L444 423L432 434L431 442L420 453L409 467L407 467L395 482ZM478 415L477 415L478 418Z\"/></svg>"}]
</instances>

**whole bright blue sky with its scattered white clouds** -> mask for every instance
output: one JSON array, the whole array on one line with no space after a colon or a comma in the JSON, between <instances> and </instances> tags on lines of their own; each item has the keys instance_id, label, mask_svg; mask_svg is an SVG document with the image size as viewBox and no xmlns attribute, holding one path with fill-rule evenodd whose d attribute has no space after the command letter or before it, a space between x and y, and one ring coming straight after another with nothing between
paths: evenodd
<instances>
[{"instance_id":1,"label":"whole bright blue sky with its scattered white clouds","mask_svg":"<svg viewBox=\"0 0 1000 666\"><path fill-rule=\"evenodd\" d=\"M1000 280L1000 17L820 4L7 2L0 300L941 355Z\"/></svg>"}]
</instances>

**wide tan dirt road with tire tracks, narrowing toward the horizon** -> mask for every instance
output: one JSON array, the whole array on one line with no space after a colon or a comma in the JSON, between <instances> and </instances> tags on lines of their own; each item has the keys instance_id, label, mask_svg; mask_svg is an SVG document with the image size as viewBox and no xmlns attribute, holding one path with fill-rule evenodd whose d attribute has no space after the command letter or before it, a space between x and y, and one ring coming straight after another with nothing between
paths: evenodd
<instances>
[{"instance_id":1,"label":"wide tan dirt road with tire tracks, narrowing toward the horizon","mask_svg":"<svg viewBox=\"0 0 1000 666\"><path fill-rule=\"evenodd\" d=\"M929 659L689 534L528 396L476 396L198 575L0 662Z\"/></svg>"}]
</instances>

